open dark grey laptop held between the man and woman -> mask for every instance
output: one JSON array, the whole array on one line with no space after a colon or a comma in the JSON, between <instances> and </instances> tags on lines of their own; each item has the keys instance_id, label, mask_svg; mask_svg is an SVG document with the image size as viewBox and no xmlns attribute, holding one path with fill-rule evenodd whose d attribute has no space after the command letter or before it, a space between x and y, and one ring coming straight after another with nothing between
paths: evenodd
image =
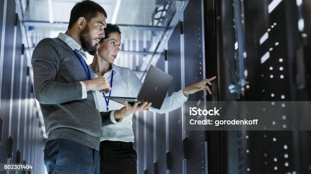
<instances>
[{"instance_id":1,"label":"open dark grey laptop held between the man and woman","mask_svg":"<svg viewBox=\"0 0 311 174\"><path fill-rule=\"evenodd\" d=\"M128 101L129 105L133 105L135 102L142 104L147 101L152 103L151 108L160 109L172 80L173 77L171 75L153 65L150 65L145 80L141 85L136 98L108 96L105 98L120 104L124 104L125 101Z\"/></svg>"}]
</instances>

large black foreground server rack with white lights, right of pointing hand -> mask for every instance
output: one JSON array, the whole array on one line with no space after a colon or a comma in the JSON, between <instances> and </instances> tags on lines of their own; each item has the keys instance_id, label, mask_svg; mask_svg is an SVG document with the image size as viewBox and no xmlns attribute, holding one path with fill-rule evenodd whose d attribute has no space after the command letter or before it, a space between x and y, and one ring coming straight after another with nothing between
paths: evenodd
<instances>
[{"instance_id":1,"label":"large black foreground server rack with white lights, right of pointing hand","mask_svg":"<svg viewBox=\"0 0 311 174\"><path fill-rule=\"evenodd\" d=\"M309 1L206 1L205 31L215 36L206 50L216 49L206 66L220 78L213 100L308 101L309 7ZM216 151L209 172L310 173L310 134L286 131L288 117L271 122L279 131L207 132Z\"/></svg>"}]
</instances>

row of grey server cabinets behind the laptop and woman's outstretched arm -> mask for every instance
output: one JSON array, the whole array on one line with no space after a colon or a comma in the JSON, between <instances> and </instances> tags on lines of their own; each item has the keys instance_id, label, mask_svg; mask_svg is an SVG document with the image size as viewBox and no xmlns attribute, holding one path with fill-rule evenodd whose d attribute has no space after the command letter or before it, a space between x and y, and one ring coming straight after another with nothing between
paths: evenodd
<instances>
[{"instance_id":1,"label":"row of grey server cabinets behind the laptop and woman's outstretched arm","mask_svg":"<svg viewBox=\"0 0 311 174\"><path fill-rule=\"evenodd\" d=\"M174 77L168 95L202 80L206 75L203 17L203 1L189 1L157 62L157 67ZM205 102L205 98L200 92L192 95L189 101ZM143 146L148 149L146 154L138 155L138 158L143 158L138 159L138 173L207 171L205 132L185 131L183 108L167 114L155 114L155 117L147 115L147 122L138 125L143 114L135 117L134 125L138 153L143 152ZM152 147L151 142L154 143L153 151L149 147Z\"/></svg>"}]
</instances>

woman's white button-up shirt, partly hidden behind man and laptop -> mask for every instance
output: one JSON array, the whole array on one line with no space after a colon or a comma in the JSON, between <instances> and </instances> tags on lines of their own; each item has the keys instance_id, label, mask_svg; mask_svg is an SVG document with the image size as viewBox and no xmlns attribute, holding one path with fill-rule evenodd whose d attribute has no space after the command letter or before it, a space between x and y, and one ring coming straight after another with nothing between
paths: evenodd
<instances>
[{"instance_id":1,"label":"woman's white button-up shirt, partly hidden behind man and laptop","mask_svg":"<svg viewBox=\"0 0 311 174\"><path fill-rule=\"evenodd\" d=\"M126 67L116 66L111 64L113 70L113 81L112 81L112 90L111 95L113 97L137 97L139 93L139 89L142 85L142 82L138 79L135 73ZM112 70L106 72L104 77L106 80L111 83L111 74ZM98 77L97 74L92 72L92 78ZM108 96L109 94L105 94ZM101 111L107 111L107 104L105 98L103 97L103 93L99 91L93 92L94 100L96 108ZM150 109L150 111L158 112L158 113L166 113L177 108L180 108L183 103L188 99L182 93L182 91L178 91L173 93L170 97L166 97L162 104L161 109ZM121 105L112 100L109 101L108 108L109 110L117 110L122 108L124 105ZM134 133L133 133L133 114L126 116L117 124L110 124L102 127L102 137L101 141L109 140L109 141L122 141L122 142L134 142Z\"/></svg>"}]
</instances>

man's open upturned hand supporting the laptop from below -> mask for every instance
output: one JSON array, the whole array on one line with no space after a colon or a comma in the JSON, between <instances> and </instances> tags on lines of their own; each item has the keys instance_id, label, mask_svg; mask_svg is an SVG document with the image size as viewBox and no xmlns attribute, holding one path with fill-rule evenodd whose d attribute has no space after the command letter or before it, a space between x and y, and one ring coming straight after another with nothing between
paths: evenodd
<instances>
[{"instance_id":1,"label":"man's open upturned hand supporting the laptop from below","mask_svg":"<svg viewBox=\"0 0 311 174\"><path fill-rule=\"evenodd\" d=\"M114 112L114 118L116 121L134 113L137 111L143 111L143 110L147 110L152 103L151 102L144 102L141 105L138 105L138 102L135 102L135 104L133 106L129 106L128 101L124 102L125 107L121 108L120 110L116 110Z\"/></svg>"}]
</instances>

